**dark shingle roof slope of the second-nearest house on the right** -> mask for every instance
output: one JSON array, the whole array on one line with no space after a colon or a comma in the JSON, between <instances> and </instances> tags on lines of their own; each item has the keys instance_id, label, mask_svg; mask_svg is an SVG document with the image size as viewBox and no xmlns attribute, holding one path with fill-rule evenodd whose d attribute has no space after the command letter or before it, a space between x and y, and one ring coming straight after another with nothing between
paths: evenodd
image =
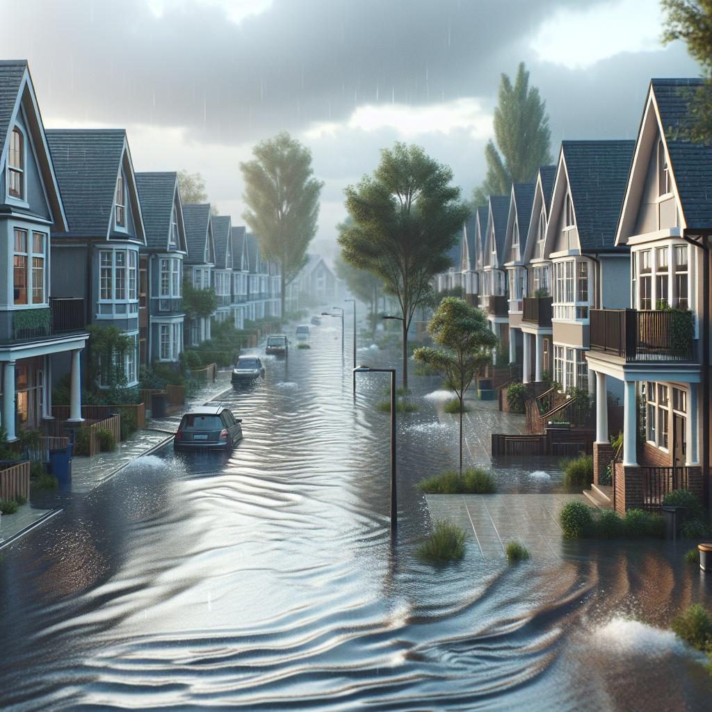
<instances>
[{"instance_id":1,"label":"dark shingle roof slope of the second-nearest house on the right","mask_svg":"<svg viewBox=\"0 0 712 712\"><path fill-rule=\"evenodd\" d=\"M584 252L612 251L634 141L563 141L579 242Z\"/></svg>"}]
</instances>

